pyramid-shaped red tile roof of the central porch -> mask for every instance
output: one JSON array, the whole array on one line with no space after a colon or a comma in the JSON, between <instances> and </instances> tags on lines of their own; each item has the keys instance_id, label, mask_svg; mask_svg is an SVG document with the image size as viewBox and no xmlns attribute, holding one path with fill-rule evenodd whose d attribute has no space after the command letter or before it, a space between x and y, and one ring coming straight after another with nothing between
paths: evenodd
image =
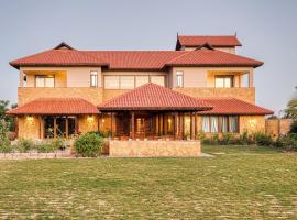
<instances>
[{"instance_id":1,"label":"pyramid-shaped red tile roof of the central porch","mask_svg":"<svg viewBox=\"0 0 297 220\"><path fill-rule=\"evenodd\" d=\"M145 84L98 107L99 110L209 110L212 107L194 97L155 84Z\"/></svg>"}]
</instances>

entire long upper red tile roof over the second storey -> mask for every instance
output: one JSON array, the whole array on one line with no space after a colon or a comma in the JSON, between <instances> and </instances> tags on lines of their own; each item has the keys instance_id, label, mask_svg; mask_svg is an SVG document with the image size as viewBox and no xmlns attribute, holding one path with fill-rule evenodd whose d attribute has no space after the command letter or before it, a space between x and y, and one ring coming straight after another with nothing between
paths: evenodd
<instances>
[{"instance_id":1,"label":"entire long upper red tile roof over the second storey","mask_svg":"<svg viewBox=\"0 0 297 220\"><path fill-rule=\"evenodd\" d=\"M191 66L257 67L263 64L243 56L205 48L193 53L191 51L77 51L63 46L12 61L10 65L15 68L21 66L108 66L110 69L161 70L168 65L178 65L177 61L180 61L182 65Z\"/></svg>"}]
</instances>

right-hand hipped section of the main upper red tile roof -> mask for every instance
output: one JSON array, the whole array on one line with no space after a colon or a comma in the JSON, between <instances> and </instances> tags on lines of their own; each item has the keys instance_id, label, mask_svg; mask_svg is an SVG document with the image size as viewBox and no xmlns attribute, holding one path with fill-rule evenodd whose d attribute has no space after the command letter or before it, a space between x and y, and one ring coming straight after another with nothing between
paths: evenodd
<instances>
[{"instance_id":1,"label":"right-hand hipped section of the main upper red tile roof","mask_svg":"<svg viewBox=\"0 0 297 220\"><path fill-rule=\"evenodd\" d=\"M244 56L230 54L217 50L201 48L197 51L189 51L170 62L167 66L253 66L258 67L263 62L251 59Z\"/></svg>"}]
</instances>

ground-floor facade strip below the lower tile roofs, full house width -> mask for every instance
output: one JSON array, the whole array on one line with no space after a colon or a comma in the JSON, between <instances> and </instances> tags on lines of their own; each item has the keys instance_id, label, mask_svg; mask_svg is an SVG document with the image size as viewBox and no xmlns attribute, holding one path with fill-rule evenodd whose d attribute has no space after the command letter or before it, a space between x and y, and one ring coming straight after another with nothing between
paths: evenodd
<instances>
[{"instance_id":1,"label":"ground-floor facade strip below the lower tile roofs, full house width","mask_svg":"<svg viewBox=\"0 0 297 220\"><path fill-rule=\"evenodd\" d=\"M201 116L190 112L20 116L16 121L18 136L32 140L72 139L90 131L100 131L114 140L196 140L199 132L207 135L265 132L264 116Z\"/></svg>"}]
</instances>

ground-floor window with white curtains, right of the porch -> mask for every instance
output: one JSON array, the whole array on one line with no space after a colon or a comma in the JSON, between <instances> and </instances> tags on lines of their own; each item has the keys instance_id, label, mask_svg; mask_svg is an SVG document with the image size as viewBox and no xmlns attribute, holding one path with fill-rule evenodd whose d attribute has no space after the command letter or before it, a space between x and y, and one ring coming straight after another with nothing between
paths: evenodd
<instances>
[{"instance_id":1,"label":"ground-floor window with white curtains, right of the porch","mask_svg":"<svg viewBox=\"0 0 297 220\"><path fill-rule=\"evenodd\" d=\"M202 117L204 132L239 132L239 117L238 116L206 116Z\"/></svg>"}]
</instances>

